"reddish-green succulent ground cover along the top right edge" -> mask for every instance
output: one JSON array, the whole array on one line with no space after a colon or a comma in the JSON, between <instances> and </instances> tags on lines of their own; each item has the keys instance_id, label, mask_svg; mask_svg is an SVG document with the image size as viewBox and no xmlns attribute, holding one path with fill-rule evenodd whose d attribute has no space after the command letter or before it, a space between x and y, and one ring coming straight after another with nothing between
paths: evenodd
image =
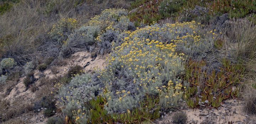
<instances>
[{"instance_id":1,"label":"reddish-green succulent ground cover along the top right edge","mask_svg":"<svg viewBox=\"0 0 256 124\"><path fill-rule=\"evenodd\" d=\"M199 6L199 7L198 7ZM209 24L209 19L225 13L229 18L255 18L255 1L247 0L136 0L131 3L129 11L137 10L129 15L131 20L138 21L136 24L158 21L162 18L182 17L183 21L204 22ZM251 15L251 16L250 16Z\"/></svg>"}]
</instances>

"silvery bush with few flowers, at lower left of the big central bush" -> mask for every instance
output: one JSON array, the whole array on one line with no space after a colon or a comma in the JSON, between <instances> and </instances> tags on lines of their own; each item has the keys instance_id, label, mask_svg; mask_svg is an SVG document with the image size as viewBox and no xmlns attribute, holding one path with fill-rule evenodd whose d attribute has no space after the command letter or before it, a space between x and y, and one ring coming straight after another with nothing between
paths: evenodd
<instances>
[{"instance_id":1,"label":"silvery bush with few flowers, at lower left of the big central bush","mask_svg":"<svg viewBox=\"0 0 256 124\"><path fill-rule=\"evenodd\" d=\"M70 111L74 111L76 114L83 116L82 118L79 117L84 123L87 122L87 116L82 113L86 113L86 110L89 109L89 100L100 95L100 85L91 81L91 76L88 73L77 75L69 84L59 88L59 98L67 103L64 113L68 114Z\"/></svg>"}]
</instances>

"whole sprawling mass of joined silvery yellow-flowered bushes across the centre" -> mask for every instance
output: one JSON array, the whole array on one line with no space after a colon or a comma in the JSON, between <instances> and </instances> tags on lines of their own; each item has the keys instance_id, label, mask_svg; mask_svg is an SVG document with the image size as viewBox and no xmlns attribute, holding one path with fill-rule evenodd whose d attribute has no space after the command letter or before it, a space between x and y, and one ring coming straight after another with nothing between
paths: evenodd
<instances>
[{"instance_id":1,"label":"whole sprawling mass of joined silvery yellow-flowered bushes across the centre","mask_svg":"<svg viewBox=\"0 0 256 124\"><path fill-rule=\"evenodd\" d=\"M109 114L141 108L139 102L145 95L158 95L163 108L177 108L180 102L184 102L182 95L186 90L176 78L185 69L183 56L197 51L197 47L207 46L214 38L213 31L201 37L201 25L195 22L163 26L153 23L133 31L132 28L128 30L131 25L127 17L116 16L118 13L112 11L103 11L92 18L89 26L79 29L83 32L86 28L93 31L103 28L95 39L100 46L99 52L110 48L112 52L107 58L108 65L104 69L96 68L94 75L75 75L70 84L58 84L61 89L59 96L63 103L68 104L66 110L75 106L73 115L87 119L86 110L91 108L88 102L97 95L105 98L102 105ZM180 50L185 54L176 52Z\"/></svg>"}]
</instances>

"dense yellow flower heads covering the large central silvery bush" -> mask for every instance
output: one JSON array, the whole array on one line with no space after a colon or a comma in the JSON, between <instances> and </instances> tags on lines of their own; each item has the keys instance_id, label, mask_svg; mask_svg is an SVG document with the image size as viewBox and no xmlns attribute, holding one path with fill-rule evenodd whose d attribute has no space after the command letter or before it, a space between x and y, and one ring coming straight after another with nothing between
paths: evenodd
<instances>
[{"instance_id":1,"label":"dense yellow flower heads covering the large central silvery bush","mask_svg":"<svg viewBox=\"0 0 256 124\"><path fill-rule=\"evenodd\" d=\"M159 89L156 87L162 85L162 79L171 80L175 74L183 71L181 61L184 59L182 57L184 54L175 53L177 46L174 43L168 44L161 38L158 40L139 38L139 35L143 33L150 35L166 30L168 29L162 29L158 26L137 29L123 39L124 43L121 46L112 48L112 53L107 58L107 68L97 72L100 74L98 77L106 84L106 87L112 89L111 82L117 78L113 77L113 73L117 68L125 70L134 78L133 83L135 83L136 89L143 89L139 90L141 93L158 92ZM116 95L119 93L121 92L117 91ZM127 95L129 94L123 94L118 100L121 101Z\"/></svg>"}]
</instances>

